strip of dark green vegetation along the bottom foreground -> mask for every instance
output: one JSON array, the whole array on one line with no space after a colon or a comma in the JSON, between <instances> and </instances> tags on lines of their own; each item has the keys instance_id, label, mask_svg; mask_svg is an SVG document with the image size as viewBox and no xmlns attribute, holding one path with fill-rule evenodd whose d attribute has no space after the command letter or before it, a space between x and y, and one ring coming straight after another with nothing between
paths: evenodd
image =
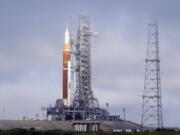
<instances>
[{"instance_id":1,"label":"strip of dark green vegetation along the bottom foreground","mask_svg":"<svg viewBox=\"0 0 180 135\"><path fill-rule=\"evenodd\" d=\"M141 133L112 133L112 132L67 132L62 130L36 131L34 129L0 130L0 135L180 135L180 131L161 130Z\"/></svg>"}]
</instances>

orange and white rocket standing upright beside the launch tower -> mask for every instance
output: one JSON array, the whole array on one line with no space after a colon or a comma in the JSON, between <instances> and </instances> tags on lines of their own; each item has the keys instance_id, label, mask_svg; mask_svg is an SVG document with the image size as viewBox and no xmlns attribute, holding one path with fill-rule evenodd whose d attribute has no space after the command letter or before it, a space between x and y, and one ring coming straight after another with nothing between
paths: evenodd
<instances>
[{"instance_id":1,"label":"orange and white rocket standing upright beside the launch tower","mask_svg":"<svg viewBox=\"0 0 180 135\"><path fill-rule=\"evenodd\" d=\"M65 106L70 105L70 83L71 83L71 46L69 31L66 24L65 42L63 49L63 103Z\"/></svg>"}]
</instances>

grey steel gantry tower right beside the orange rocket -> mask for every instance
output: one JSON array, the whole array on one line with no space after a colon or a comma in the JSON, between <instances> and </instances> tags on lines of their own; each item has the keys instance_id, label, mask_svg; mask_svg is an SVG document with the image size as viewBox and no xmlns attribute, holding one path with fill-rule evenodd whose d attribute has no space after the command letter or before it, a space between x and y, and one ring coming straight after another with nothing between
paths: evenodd
<instances>
[{"instance_id":1,"label":"grey steel gantry tower right beside the orange rocket","mask_svg":"<svg viewBox=\"0 0 180 135\"><path fill-rule=\"evenodd\" d=\"M91 88L90 37L93 34L94 32L90 30L89 17L81 15L77 41L74 45L76 88L73 104L75 108L82 108L83 110L99 106Z\"/></svg>"}]
</instances>

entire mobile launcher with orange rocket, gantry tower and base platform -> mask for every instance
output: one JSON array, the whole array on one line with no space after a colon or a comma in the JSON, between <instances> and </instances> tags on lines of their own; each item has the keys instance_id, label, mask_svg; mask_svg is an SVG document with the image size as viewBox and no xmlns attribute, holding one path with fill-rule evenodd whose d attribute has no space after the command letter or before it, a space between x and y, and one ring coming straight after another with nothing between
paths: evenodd
<instances>
[{"instance_id":1,"label":"entire mobile launcher with orange rocket, gantry tower and base platform","mask_svg":"<svg viewBox=\"0 0 180 135\"><path fill-rule=\"evenodd\" d=\"M47 108L52 120L120 120L99 107L91 87L91 43L95 35L89 17L81 15L76 40L70 38L66 25L63 50L63 97Z\"/></svg>"}]
</instances>

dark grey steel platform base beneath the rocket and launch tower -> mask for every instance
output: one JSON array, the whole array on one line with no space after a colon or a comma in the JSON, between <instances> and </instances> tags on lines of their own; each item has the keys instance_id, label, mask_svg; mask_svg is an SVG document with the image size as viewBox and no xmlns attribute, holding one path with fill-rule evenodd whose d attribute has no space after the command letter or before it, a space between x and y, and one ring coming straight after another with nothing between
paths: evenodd
<instances>
[{"instance_id":1,"label":"dark grey steel platform base beneath the rocket and launch tower","mask_svg":"<svg viewBox=\"0 0 180 135\"><path fill-rule=\"evenodd\" d=\"M51 115L52 120L120 120L119 115L109 115L109 113L102 108L92 107L88 109L74 108L58 104L60 100L56 101L56 106L49 107L47 115Z\"/></svg>"}]
</instances>

